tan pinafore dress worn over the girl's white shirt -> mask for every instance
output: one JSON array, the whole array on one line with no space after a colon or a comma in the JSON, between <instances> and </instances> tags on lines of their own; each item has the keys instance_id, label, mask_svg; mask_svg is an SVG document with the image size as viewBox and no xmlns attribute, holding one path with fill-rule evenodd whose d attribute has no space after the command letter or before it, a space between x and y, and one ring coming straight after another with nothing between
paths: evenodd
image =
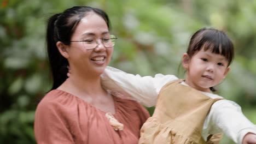
<instances>
[{"instance_id":1,"label":"tan pinafore dress worn over the girl's white shirt","mask_svg":"<svg viewBox=\"0 0 256 144\"><path fill-rule=\"evenodd\" d=\"M140 144L219 143L222 134L203 140L202 127L212 104L220 99L207 97L182 81L172 81L161 89L153 116L141 128Z\"/></svg>"}]
</instances>

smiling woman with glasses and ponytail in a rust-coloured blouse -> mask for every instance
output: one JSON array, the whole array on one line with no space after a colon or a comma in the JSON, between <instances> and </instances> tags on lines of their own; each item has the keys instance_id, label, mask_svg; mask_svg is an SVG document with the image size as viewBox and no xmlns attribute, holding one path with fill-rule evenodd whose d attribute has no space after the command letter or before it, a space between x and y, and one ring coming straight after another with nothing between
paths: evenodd
<instances>
[{"instance_id":1,"label":"smiling woman with glasses and ponytail in a rust-coloured blouse","mask_svg":"<svg viewBox=\"0 0 256 144\"><path fill-rule=\"evenodd\" d=\"M47 44L54 84L37 106L37 143L138 143L149 113L101 86L115 39L101 9L73 7L50 17ZM67 66L72 69L68 78Z\"/></svg>"}]
</instances>

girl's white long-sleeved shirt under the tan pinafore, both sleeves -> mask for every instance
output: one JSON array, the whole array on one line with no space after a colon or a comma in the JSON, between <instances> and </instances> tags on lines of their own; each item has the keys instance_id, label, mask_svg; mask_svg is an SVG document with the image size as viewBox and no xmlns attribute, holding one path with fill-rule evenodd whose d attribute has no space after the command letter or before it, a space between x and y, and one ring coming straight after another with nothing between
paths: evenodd
<instances>
[{"instance_id":1,"label":"girl's white long-sleeved shirt under the tan pinafore, both sleeves","mask_svg":"<svg viewBox=\"0 0 256 144\"><path fill-rule=\"evenodd\" d=\"M141 77L112 67L107 67L101 75L103 87L123 93L123 98L136 100L145 106L155 106L161 88L176 79L174 75L162 74ZM185 82L182 84L188 86ZM202 93L213 99L222 98L213 93ZM206 140L208 134L224 133L234 142L242 143L249 132L256 134L256 126L243 115L238 104L223 99L212 105L203 124L202 137Z\"/></svg>"}]
</instances>

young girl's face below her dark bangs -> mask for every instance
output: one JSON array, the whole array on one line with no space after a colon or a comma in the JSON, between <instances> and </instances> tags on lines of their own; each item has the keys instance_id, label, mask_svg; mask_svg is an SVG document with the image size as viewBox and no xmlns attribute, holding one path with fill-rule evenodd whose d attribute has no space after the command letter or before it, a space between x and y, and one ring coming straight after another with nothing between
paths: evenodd
<instances>
[{"instance_id":1,"label":"young girl's face below her dark bangs","mask_svg":"<svg viewBox=\"0 0 256 144\"><path fill-rule=\"evenodd\" d=\"M203 48L189 58L183 55L183 67L187 69L185 82L199 91L211 92L210 87L216 86L228 74L228 60L211 50Z\"/></svg>"}]
</instances>

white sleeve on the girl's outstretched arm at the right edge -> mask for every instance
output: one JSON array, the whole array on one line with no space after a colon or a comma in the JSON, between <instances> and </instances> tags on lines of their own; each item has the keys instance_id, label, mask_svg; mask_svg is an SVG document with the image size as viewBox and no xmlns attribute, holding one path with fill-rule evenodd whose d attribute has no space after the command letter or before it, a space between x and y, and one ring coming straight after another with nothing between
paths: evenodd
<instances>
[{"instance_id":1,"label":"white sleeve on the girl's outstretched arm at the right edge","mask_svg":"<svg viewBox=\"0 0 256 144\"><path fill-rule=\"evenodd\" d=\"M236 143L251 132L256 134L256 126L247 119L241 107L234 101L218 100L211 107L208 118L209 134L224 133Z\"/></svg>"}]
</instances>

